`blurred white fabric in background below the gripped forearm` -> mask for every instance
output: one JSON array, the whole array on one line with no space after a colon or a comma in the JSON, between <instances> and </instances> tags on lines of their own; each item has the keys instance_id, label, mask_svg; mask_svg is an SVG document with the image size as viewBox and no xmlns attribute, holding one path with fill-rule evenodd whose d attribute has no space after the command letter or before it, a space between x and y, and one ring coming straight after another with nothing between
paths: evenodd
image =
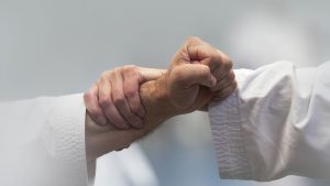
<instances>
[{"instance_id":1,"label":"blurred white fabric in background below the gripped forearm","mask_svg":"<svg viewBox=\"0 0 330 186\"><path fill-rule=\"evenodd\" d=\"M158 186L157 176L139 143L97 161L95 186Z\"/></svg>"}]
</instances>

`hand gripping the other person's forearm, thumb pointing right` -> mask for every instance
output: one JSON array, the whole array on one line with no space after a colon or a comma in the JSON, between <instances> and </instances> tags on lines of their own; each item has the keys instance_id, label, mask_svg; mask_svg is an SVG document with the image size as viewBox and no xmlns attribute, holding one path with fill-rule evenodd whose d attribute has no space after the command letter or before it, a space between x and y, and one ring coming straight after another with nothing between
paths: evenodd
<instances>
[{"instance_id":1,"label":"hand gripping the other person's forearm, thumb pointing right","mask_svg":"<svg viewBox=\"0 0 330 186\"><path fill-rule=\"evenodd\" d=\"M163 73L133 65L102 73L84 96L87 111L99 124L110 123L118 129L142 128L145 110L140 100L140 85L161 77Z\"/></svg>"}]
</instances>

